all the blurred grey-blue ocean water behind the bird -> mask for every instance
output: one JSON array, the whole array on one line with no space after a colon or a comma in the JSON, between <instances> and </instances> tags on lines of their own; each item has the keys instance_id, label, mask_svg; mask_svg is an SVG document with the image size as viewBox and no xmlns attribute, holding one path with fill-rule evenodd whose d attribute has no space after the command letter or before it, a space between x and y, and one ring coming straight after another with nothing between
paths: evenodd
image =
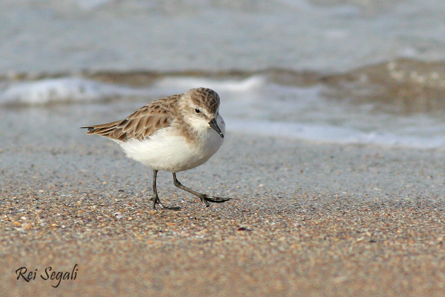
<instances>
[{"instance_id":1,"label":"all the blurred grey-blue ocean water behind the bird","mask_svg":"<svg viewBox=\"0 0 445 297\"><path fill-rule=\"evenodd\" d=\"M229 132L444 148L444 15L440 0L5 0L0 109L94 104L107 121L208 87Z\"/></svg>"}]
</instances>

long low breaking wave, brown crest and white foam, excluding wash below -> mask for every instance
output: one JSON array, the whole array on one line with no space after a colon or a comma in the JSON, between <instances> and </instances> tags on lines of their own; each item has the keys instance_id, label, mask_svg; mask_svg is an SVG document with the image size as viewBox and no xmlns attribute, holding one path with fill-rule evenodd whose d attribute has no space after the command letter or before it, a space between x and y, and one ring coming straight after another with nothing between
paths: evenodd
<instances>
[{"instance_id":1,"label":"long low breaking wave, brown crest and white foam, excluding wash below","mask_svg":"<svg viewBox=\"0 0 445 297\"><path fill-rule=\"evenodd\" d=\"M34 77L37 77L34 78ZM45 105L181 93L197 86L246 91L281 85L322 87L320 96L373 104L392 113L437 113L445 109L445 61L397 59L346 73L325 74L287 69L227 72L90 72L0 78L0 105ZM269 86L269 87L267 87Z\"/></svg>"}]
</instances>

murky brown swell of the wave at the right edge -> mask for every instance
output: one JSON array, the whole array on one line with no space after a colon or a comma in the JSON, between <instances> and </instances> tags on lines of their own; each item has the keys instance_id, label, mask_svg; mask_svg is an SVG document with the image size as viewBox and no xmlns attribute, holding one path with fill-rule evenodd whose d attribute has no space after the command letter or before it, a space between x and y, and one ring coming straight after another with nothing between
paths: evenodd
<instances>
[{"instance_id":1,"label":"murky brown swell of the wave at the right edge","mask_svg":"<svg viewBox=\"0 0 445 297\"><path fill-rule=\"evenodd\" d=\"M445 62L398 59L322 79L325 96L373 103L395 113L445 109Z\"/></svg>"}]
</instances>

